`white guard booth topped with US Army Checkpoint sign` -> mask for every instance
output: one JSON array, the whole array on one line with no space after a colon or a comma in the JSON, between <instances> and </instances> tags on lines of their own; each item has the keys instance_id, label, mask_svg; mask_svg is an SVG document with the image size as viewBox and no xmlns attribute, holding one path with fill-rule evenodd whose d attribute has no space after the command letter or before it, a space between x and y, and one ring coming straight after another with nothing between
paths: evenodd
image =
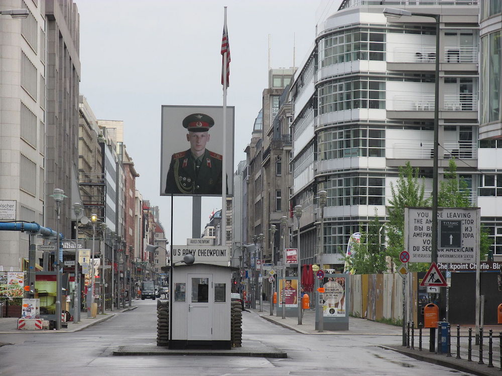
<instances>
[{"instance_id":1,"label":"white guard booth topped with US Army Checkpoint sign","mask_svg":"<svg viewBox=\"0 0 502 376\"><path fill-rule=\"evenodd\" d=\"M195 261L183 264L191 253ZM230 349L229 247L173 246L169 348Z\"/></svg>"}]
</instances>

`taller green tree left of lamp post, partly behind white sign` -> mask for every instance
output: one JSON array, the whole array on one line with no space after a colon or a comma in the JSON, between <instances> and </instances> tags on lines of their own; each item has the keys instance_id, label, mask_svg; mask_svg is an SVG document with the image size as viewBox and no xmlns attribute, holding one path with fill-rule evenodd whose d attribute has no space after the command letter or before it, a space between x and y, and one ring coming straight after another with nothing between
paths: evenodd
<instances>
[{"instance_id":1,"label":"taller green tree left of lamp post, partly behind white sign","mask_svg":"<svg viewBox=\"0 0 502 376\"><path fill-rule=\"evenodd\" d=\"M419 181L418 168L413 168L409 161L404 167L399 168L399 178L396 184L391 182L391 194L386 233L387 254L391 257L394 266L400 263L399 254L404 250L405 208L427 207L430 206L430 200L424 197L425 183L423 179Z\"/></svg>"}]
</instances>

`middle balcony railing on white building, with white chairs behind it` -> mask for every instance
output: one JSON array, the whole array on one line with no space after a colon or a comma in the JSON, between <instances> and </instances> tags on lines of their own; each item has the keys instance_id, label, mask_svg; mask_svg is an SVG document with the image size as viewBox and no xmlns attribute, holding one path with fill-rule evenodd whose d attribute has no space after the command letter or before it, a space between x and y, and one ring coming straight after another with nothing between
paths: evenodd
<instances>
[{"instance_id":1,"label":"middle balcony railing on white building, with white chairs behind it","mask_svg":"<svg viewBox=\"0 0 502 376\"><path fill-rule=\"evenodd\" d=\"M477 111L477 94L445 94L443 98L441 111ZM394 111L434 111L434 94L396 95L393 104Z\"/></svg>"}]
</instances>

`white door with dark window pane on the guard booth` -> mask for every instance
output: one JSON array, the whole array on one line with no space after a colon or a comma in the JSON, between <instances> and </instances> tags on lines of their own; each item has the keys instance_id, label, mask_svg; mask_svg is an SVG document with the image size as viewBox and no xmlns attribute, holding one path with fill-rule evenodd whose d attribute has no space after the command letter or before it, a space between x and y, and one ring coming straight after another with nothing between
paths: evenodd
<instances>
[{"instance_id":1,"label":"white door with dark window pane on the guard booth","mask_svg":"<svg viewBox=\"0 0 502 376\"><path fill-rule=\"evenodd\" d=\"M211 340L212 275L188 274L188 340Z\"/></svg>"}]
</instances>

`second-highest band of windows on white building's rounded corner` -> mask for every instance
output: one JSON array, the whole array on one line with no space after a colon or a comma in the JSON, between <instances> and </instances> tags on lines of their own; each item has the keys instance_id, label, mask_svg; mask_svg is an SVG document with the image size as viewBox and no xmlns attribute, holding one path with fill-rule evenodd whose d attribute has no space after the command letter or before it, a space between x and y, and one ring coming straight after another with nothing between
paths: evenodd
<instances>
[{"instance_id":1,"label":"second-highest band of windows on white building's rounded corner","mask_svg":"<svg viewBox=\"0 0 502 376\"><path fill-rule=\"evenodd\" d=\"M321 114L356 108L385 109L385 78L349 77L319 89Z\"/></svg>"}]
</instances>

